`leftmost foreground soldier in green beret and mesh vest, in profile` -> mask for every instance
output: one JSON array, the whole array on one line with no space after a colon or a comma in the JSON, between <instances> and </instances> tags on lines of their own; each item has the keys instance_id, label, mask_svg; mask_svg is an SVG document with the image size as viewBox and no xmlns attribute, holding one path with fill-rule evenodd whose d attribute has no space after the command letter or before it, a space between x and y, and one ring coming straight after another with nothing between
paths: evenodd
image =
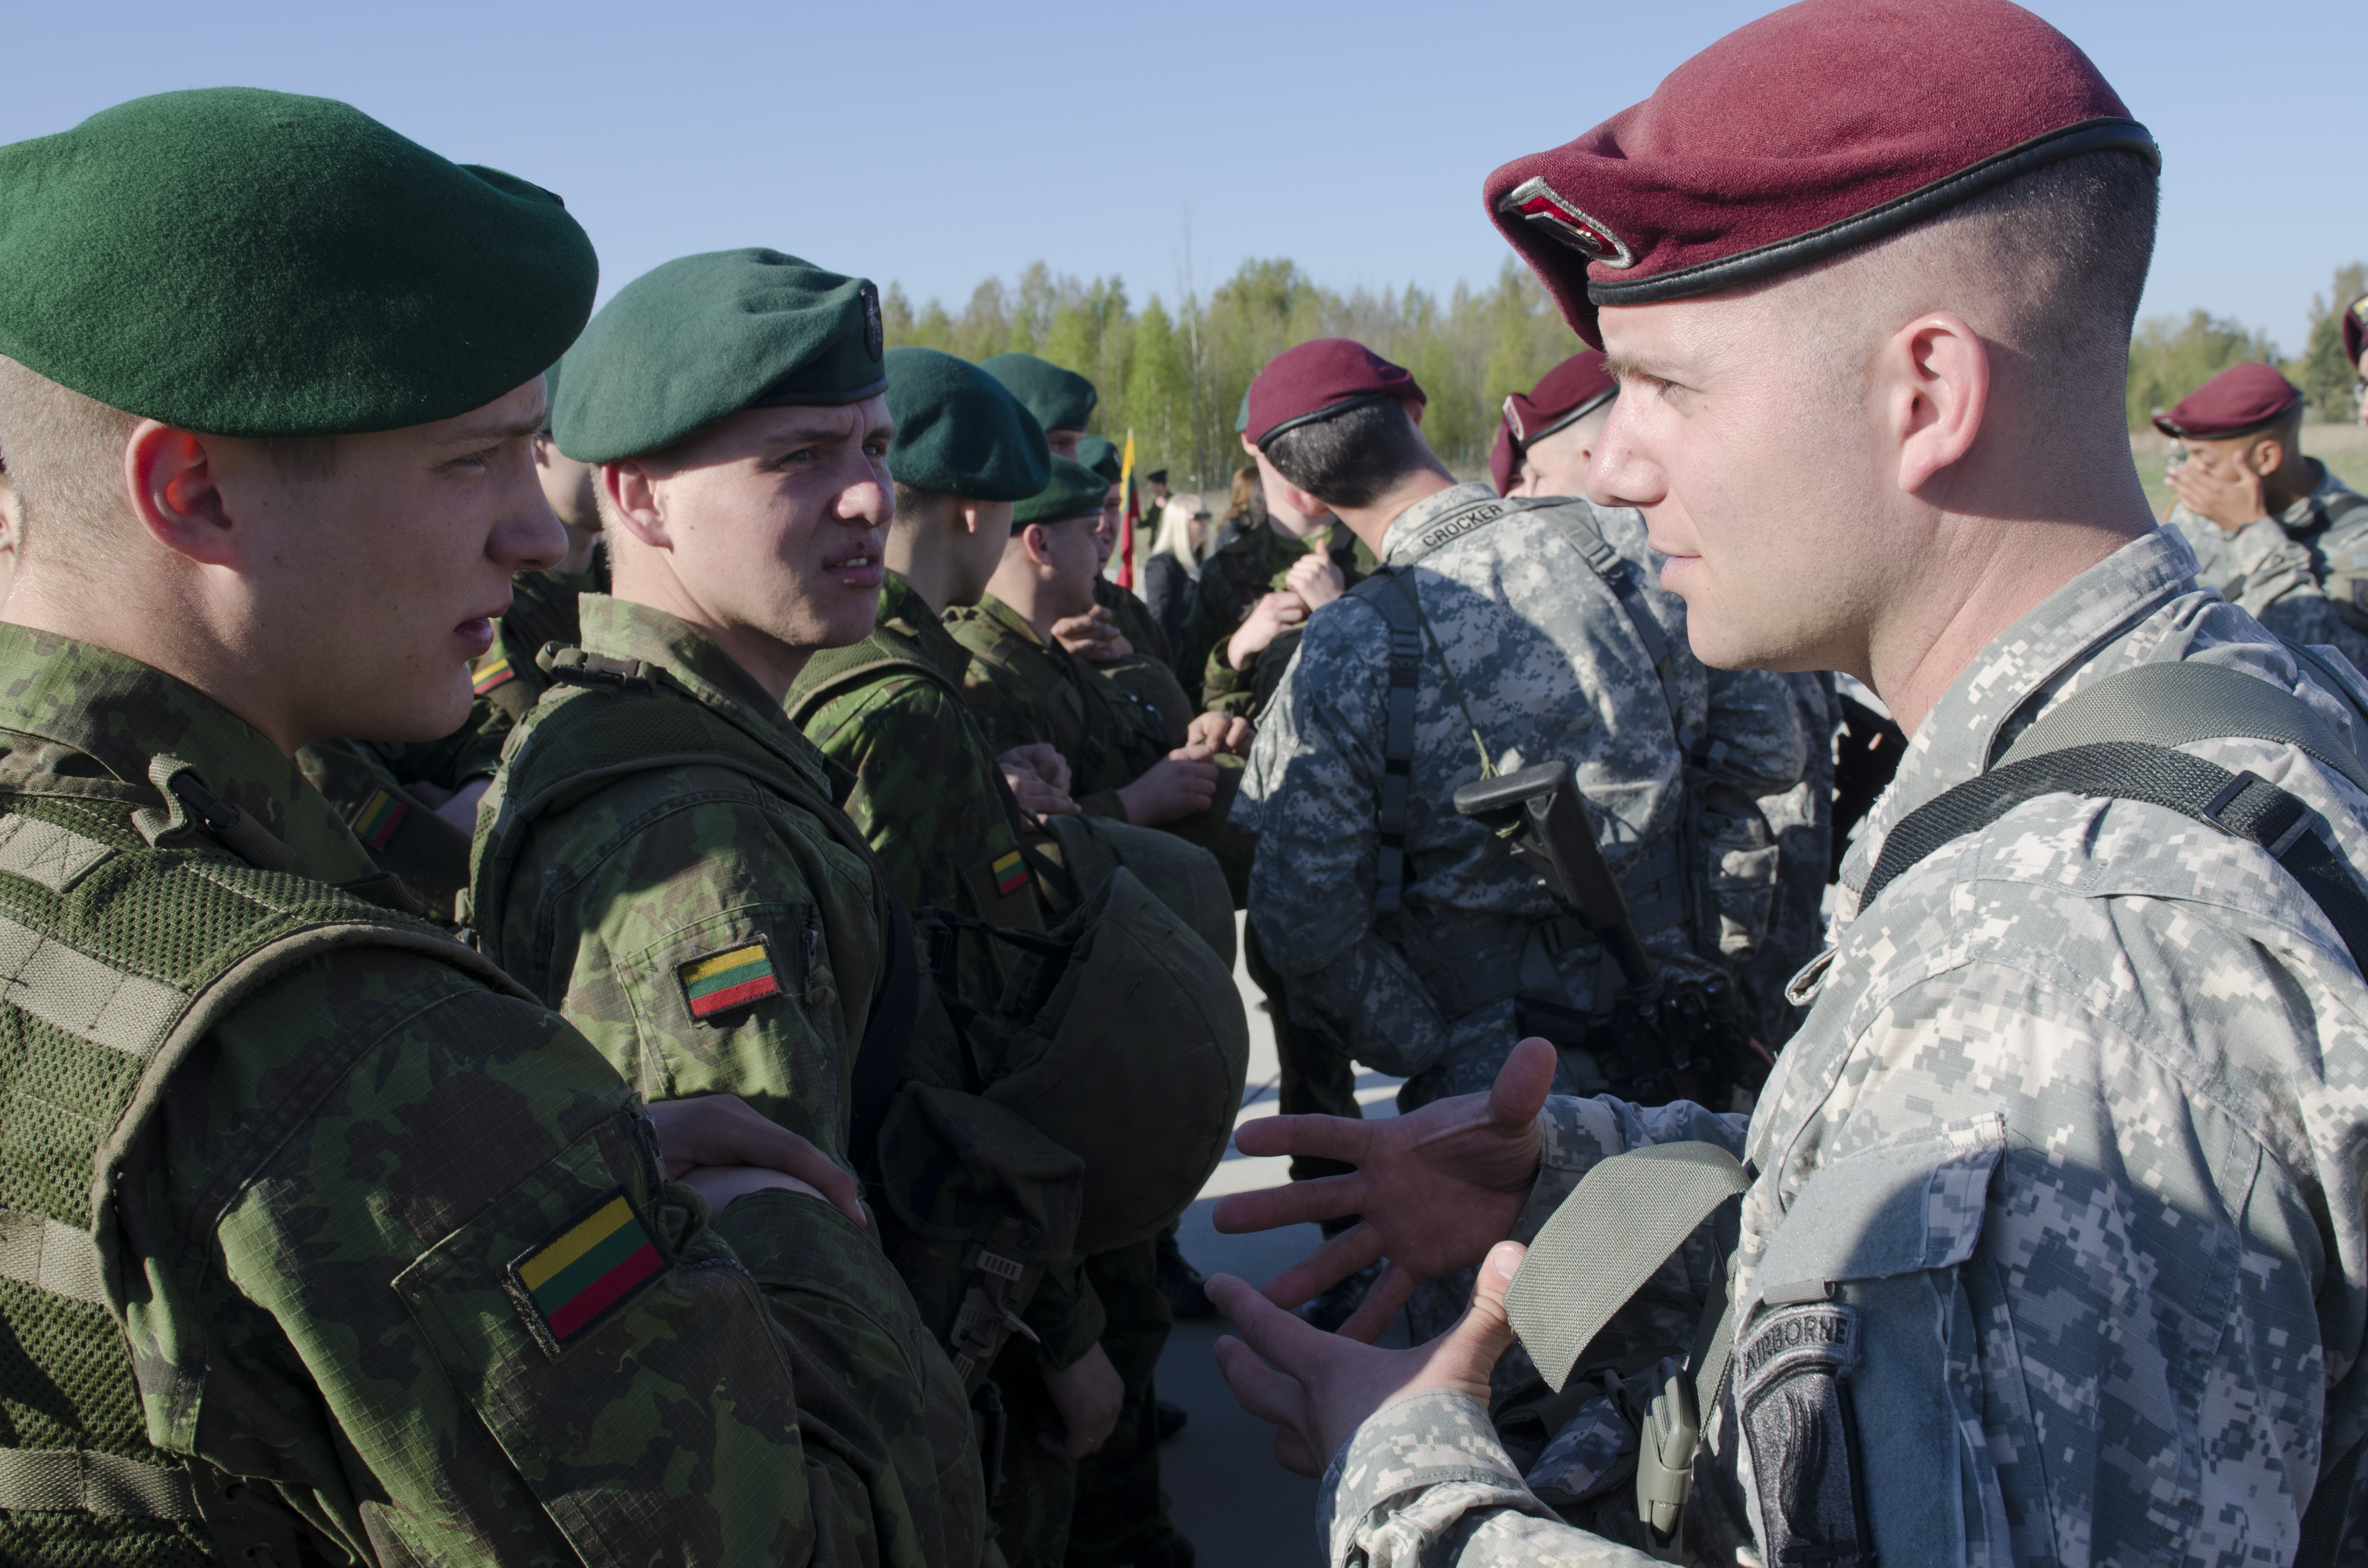
<instances>
[{"instance_id":1,"label":"leftmost foreground soldier in green beret and mesh vest, in profile","mask_svg":"<svg viewBox=\"0 0 2368 1568\"><path fill-rule=\"evenodd\" d=\"M291 758L450 732L559 559L575 220L346 104L168 92L0 149L0 1561L976 1561L888 1461L916 1379L822 1334L893 1319L852 1184L644 1108Z\"/></svg>"}]
</instances>

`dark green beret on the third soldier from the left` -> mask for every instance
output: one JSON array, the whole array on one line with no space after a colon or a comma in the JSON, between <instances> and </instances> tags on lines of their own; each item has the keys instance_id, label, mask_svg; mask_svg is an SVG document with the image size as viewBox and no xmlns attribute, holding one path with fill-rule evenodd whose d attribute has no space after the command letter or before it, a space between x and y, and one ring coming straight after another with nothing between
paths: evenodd
<instances>
[{"instance_id":1,"label":"dark green beret on the third soldier from the left","mask_svg":"<svg viewBox=\"0 0 2368 1568\"><path fill-rule=\"evenodd\" d=\"M1051 478L1051 448L1004 384L935 348L888 351L888 471L919 490L1028 500Z\"/></svg>"}]
</instances>

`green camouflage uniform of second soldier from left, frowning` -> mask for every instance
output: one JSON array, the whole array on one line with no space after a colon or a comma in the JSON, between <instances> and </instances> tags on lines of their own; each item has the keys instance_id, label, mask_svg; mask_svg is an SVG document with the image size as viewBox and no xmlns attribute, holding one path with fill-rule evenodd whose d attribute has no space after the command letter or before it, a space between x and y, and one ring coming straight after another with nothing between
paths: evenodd
<instances>
[{"instance_id":1,"label":"green camouflage uniform of second soldier from left, frowning","mask_svg":"<svg viewBox=\"0 0 2368 1568\"><path fill-rule=\"evenodd\" d=\"M585 595L583 649L646 666L670 699L758 741L817 805L843 791L779 706L682 621ZM516 730L478 815L471 917L485 955L568 1018L649 1099L739 1094L845 1161L850 1082L881 966L886 900L869 857L805 803L689 763L592 779L526 820L538 751L597 722L604 696L554 687ZM528 786L533 793L533 786ZM829 805L822 805L829 810ZM507 874L497 876L495 867ZM876 1244L874 1244L876 1251ZM796 1260L781 1258L784 1284ZM770 1281L767 1281L770 1284ZM900 1466L935 1464L983 1514L969 1400L902 1286L848 1319L850 1364L902 1386L926 1424ZM886 1383L876 1383L886 1388Z\"/></svg>"}]
</instances>

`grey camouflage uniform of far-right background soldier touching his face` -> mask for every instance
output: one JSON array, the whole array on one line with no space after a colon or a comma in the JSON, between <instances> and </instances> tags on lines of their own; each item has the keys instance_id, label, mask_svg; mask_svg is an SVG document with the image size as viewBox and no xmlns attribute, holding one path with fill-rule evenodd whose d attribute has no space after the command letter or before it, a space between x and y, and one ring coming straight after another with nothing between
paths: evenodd
<instances>
[{"instance_id":1,"label":"grey camouflage uniform of far-right background soldier touching his face","mask_svg":"<svg viewBox=\"0 0 2368 1568\"><path fill-rule=\"evenodd\" d=\"M2174 505L2164 526L2195 552L2195 580L2295 642L2368 670L2368 500L2318 464L2318 486L2278 516L2228 533Z\"/></svg>"}]
</instances>

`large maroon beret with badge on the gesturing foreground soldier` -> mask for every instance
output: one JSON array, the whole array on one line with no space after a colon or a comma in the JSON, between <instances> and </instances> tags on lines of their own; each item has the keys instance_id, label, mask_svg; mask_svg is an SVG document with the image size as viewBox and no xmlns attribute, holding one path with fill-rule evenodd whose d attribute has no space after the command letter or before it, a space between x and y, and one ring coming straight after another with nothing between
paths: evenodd
<instances>
[{"instance_id":1,"label":"large maroon beret with badge on the gesturing foreground soldier","mask_svg":"<svg viewBox=\"0 0 2368 1568\"><path fill-rule=\"evenodd\" d=\"M2006 0L1804 0L1487 178L1563 317L1790 272L2084 152L2162 166L2070 38Z\"/></svg>"}]
</instances>

